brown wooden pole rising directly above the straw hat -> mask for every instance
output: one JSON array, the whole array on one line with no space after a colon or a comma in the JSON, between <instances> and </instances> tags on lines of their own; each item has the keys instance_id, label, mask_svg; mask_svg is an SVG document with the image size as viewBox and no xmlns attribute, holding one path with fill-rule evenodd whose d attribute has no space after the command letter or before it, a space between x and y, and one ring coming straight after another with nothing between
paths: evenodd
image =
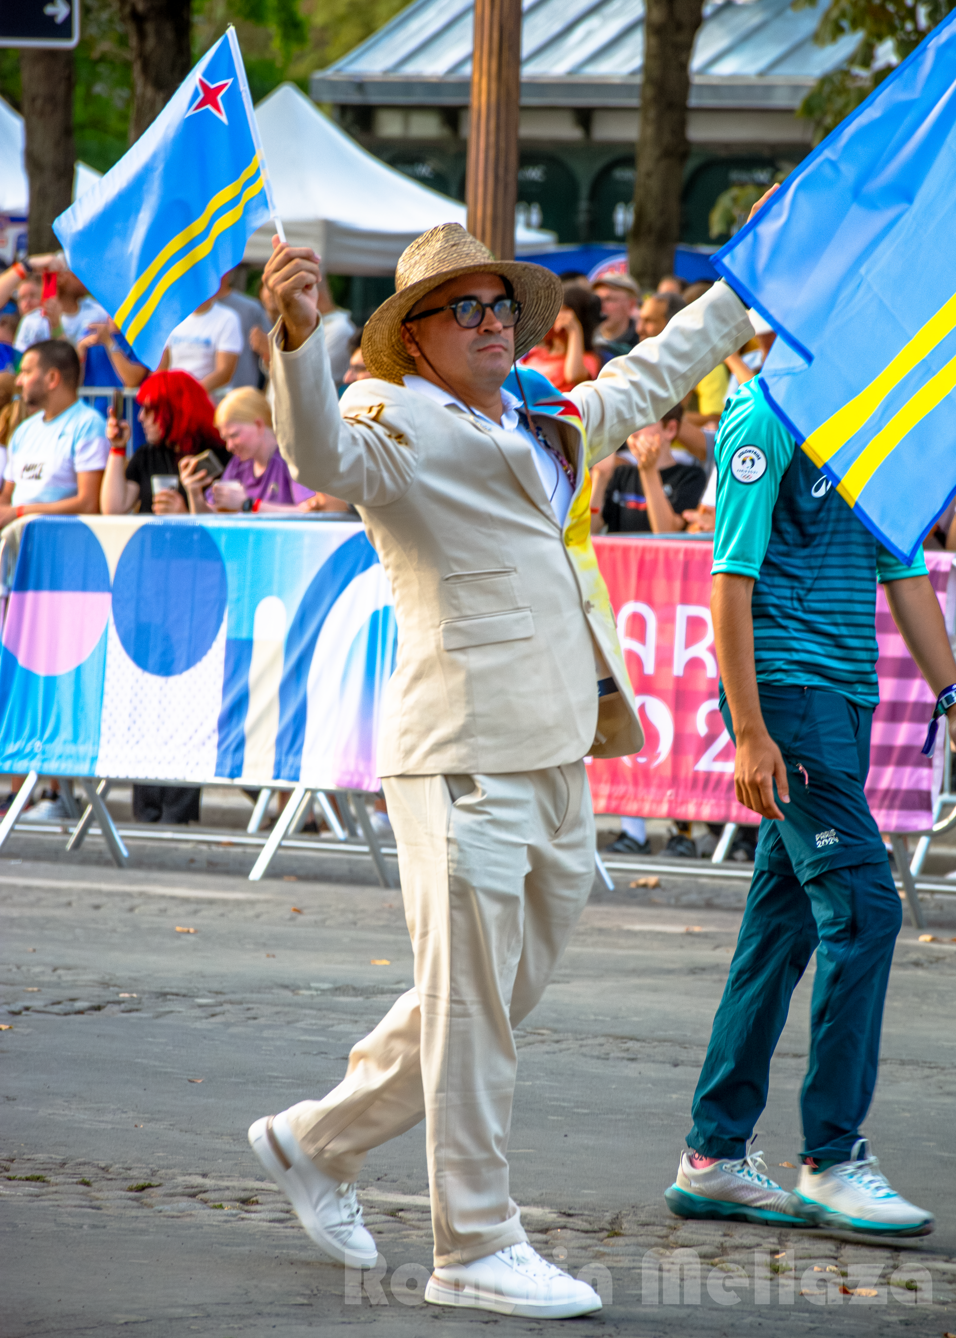
<instances>
[{"instance_id":1,"label":"brown wooden pole rising directly above the straw hat","mask_svg":"<svg viewBox=\"0 0 956 1338\"><path fill-rule=\"evenodd\" d=\"M514 260L520 100L521 0L475 0L465 195L469 231L498 260Z\"/></svg>"}]
</instances>

